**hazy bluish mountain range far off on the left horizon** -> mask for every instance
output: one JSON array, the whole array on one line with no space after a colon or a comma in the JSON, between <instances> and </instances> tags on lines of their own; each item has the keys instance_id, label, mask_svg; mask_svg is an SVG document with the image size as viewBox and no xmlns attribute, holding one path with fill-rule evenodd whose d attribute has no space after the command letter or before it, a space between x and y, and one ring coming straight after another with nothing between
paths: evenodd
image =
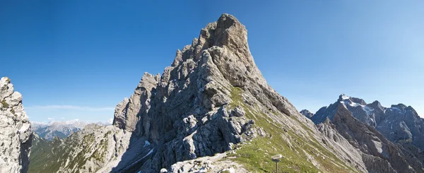
<instances>
[{"instance_id":1,"label":"hazy bluish mountain range far off on the left horizon","mask_svg":"<svg viewBox=\"0 0 424 173\"><path fill-rule=\"evenodd\" d=\"M31 126L33 127L34 132L37 133L40 138L45 138L47 141L50 141L54 137L66 138L76 131L81 131L81 129L83 129L88 124L93 123L74 119L71 121L50 121L49 123L32 122ZM111 125L112 121L99 121L94 124L107 126Z\"/></svg>"}]
</instances>

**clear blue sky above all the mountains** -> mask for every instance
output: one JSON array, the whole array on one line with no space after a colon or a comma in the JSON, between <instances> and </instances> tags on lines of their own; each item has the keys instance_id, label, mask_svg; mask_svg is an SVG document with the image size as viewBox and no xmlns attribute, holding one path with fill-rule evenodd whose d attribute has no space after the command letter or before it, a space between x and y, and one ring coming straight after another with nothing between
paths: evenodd
<instances>
[{"instance_id":1,"label":"clear blue sky above all the mountains","mask_svg":"<svg viewBox=\"0 0 424 173\"><path fill-rule=\"evenodd\" d=\"M424 1L0 1L0 76L32 121L106 121L222 13L268 83L315 112L346 93L424 116Z\"/></svg>"}]
</instances>

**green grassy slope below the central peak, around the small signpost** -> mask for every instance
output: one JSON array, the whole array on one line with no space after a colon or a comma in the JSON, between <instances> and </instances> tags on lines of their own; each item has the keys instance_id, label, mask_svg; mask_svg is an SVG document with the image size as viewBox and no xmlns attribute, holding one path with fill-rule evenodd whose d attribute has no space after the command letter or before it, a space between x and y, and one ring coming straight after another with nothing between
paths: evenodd
<instances>
[{"instance_id":1,"label":"green grassy slope below the central peak, around the small signpost","mask_svg":"<svg viewBox=\"0 0 424 173\"><path fill-rule=\"evenodd\" d=\"M267 136L259 136L241 145L235 154L228 155L228 160L235 160L245 165L251 172L275 172L275 163L271 161L271 156L281 154L285 158L278 162L278 172L358 172L345 165L310 134L307 135L308 137L302 137L292 129L283 130L283 124L270 123L273 120L263 112L252 113L254 109L242 100L241 88L232 88L231 94L230 109L237 106L243 107L246 117L255 120L254 127L263 128ZM313 133L312 129L298 119L291 118L298 121L307 133ZM319 166L314 166L312 160L315 160Z\"/></svg>"}]
</instances>

